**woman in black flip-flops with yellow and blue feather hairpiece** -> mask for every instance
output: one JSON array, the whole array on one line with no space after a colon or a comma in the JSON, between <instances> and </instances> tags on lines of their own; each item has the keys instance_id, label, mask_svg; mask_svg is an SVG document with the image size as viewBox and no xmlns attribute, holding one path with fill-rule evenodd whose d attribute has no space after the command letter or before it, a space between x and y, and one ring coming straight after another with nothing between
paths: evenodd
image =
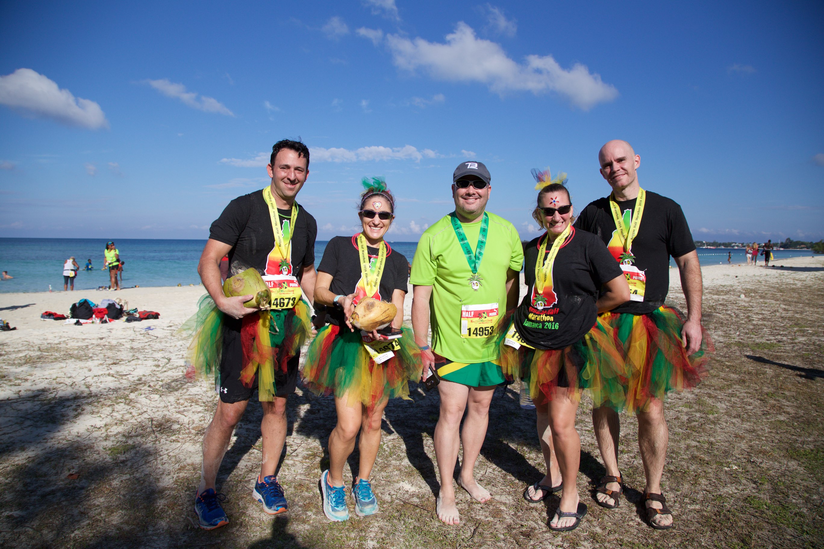
<instances>
[{"instance_id":1,"label":"woman in black flip-flops with yellow and blue feather hairpiece","mask_svg":"<svg viewBox=\"0 0 824 549\"><path fill-rule=\"evenodd\" d=\"M569 192L559 182L564 177L550 183L549 172L536 173L541 192L532 216L546 233L527 244L527 295L500 324L497 341L503 373L529 383L546 462L546 476L523 497L538 503L563 491L550 521L553 530L577 528L587 512L577 486L581 442L575 412L581 390L589 388L597 402L622 402L620 383L609 378L625 375L624 361L608 330L597 323L597 312L630 299L630 287L606 245L572 227Z\"/></svg>"}]
</instances>

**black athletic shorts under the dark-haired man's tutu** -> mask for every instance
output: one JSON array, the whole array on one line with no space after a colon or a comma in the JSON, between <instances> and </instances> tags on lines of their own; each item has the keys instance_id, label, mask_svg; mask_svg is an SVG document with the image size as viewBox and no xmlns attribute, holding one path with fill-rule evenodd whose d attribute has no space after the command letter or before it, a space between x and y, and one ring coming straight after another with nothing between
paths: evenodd
<instances>
[{"instance_id":1,"label":"black athletic shorts under the dark-haired man's tutu","mask_svg":"<svg viewBox=\"0 0 824 549\"><path fill-rule=\"evenodd\" d=\"M279 369L274 370L274 385L279 397L286 398L295 392L297 386L297 365L301 356L298 351L286 363L286 374ZM227 404L249 400L258 390L258 375L250 388L241 384L241 370L243 370L243 349L241 348L241 321L227 319L223 323L223 354L220 359L220 399Z\"/></svg>"}]
</instances>

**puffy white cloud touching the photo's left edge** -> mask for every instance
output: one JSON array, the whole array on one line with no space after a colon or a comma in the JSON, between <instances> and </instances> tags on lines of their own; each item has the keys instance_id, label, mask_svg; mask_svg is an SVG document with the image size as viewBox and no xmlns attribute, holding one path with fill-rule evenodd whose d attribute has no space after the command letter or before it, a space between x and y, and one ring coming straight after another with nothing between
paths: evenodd
<instances>
[{"instance_id":1,"label":"puffy white cloud touching the photo's left edge","mask_svg":"<svg viewBox=\"0 0 824 549\"><path fill-rule=\"evenodd\" d=\"M0 104L22 114L81 128L109 128L100 105L61 90L56 82L30 68L18 68L0 77Z\"/></svg>"}]
</instances>

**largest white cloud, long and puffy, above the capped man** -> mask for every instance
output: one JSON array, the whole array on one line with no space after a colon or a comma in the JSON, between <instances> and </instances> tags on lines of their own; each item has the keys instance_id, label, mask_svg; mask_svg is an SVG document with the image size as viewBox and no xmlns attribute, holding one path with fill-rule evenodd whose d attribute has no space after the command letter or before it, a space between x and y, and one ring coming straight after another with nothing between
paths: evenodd
<instances>
[{"instance_id":1,"label":"largest white cloud, long and puffy, above the capped man","mask_svg":"<svg viewBox=\"0 0 824 549\"><path fill-rule=\"evenodd\" d=\"M536 95L555 91L584 110L618 96L615 86L580 63L566 70L551 55L527 55L525 63L516 63L500 44L479 39L463 21L447 35L445 44L401 35L386 35L386 42L401 69L414 72L423 68L438 80L482 82L500 95L507 91Z\"/></svg>"}]
</instances>

